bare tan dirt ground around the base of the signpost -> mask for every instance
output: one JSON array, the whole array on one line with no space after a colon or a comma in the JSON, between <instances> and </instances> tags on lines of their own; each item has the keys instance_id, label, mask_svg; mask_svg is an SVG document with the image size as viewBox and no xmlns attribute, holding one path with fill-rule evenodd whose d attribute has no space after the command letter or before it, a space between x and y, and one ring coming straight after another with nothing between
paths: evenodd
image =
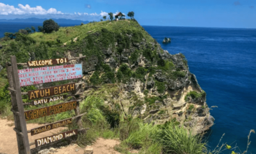
<instances>
[{"instance_id":1,"label":"bare tan dirt ground around the base of the signpost","mask_svg":"<svg viewBox=\"0 0 256 154\"><path fill-rule=\"evenodd\" d=\"M40 125L35 123L27 124L27 129L30 130L31 128L35 128L38 126ZM13 128L14 128L13 121L7 121L6 119L0 118L0 153L7 153L7 154L18 153L17 139L16 139L16 134ZM63 128L49 130L47 132L44 132L38 135L33 135L33 136L28 134L29 142L34 142L35 139L56 134L61 129ZM120 143L119 141L116 141L113 139L99 138L92 145L93 154L119 154L117 151L113 149L114 146L119 143ZM30 148L35 148L35 145L30 146ZM56 154L68 154L68 153L83 154L84 149L77 146L77 144L71 144L69 146L65 146L65 147L61 147L60 149L57 149L57 152L56 152Z\"/></svg>"}]
</instances>

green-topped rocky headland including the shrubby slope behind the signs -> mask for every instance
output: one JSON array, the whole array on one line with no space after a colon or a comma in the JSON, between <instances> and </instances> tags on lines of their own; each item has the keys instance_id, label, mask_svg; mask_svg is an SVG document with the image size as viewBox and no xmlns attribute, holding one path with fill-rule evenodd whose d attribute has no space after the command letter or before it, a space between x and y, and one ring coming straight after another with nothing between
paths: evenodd
<instances>
[{"instance_id":1,"label":"green-topped rocky headland including the shrubby slope behind the signs","mask_svg":"<svg viewBox=\"0 0 256 154\"><path fill-rule=\"evenodd\" d=\"M184 55L172 55L161 49L138 22L105 21L70 29L62 27L58 38L68 37L69 31L74 29L81 33L76 43L65 45L40 40L44 34L37 41L33 40L33 35L20 35L20 39L11 40L9 46L7 42L6 47L0 50L0 64L3 65L11 54L17 56L18 63L83 54L86 56L83 61L84 88L101 86L96 90L85 89L84 95L99 96L113 111L123 111L127 116L138 117L148 123L175 121L177 125L195 127L196 133L213 125L214 118L205 102L206 94L195 75L189 72ZM55 36L53 34L52 38Z\"/></svg>"}]
</instances>

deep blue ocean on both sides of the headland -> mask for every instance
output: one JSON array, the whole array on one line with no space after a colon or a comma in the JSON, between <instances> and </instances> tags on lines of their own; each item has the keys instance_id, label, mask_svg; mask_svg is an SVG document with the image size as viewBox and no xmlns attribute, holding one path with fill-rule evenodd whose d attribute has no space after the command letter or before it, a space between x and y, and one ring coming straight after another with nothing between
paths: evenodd
<instances>
[{"instance_id":1,"label":"deep blue ocean on both sides of the headland","mask_svg":"<svg viewBox=\"0 0 256 154\"><path fill-rule=\"evenodd\" d=\"M42 24L2 22L0 37L31 26ZM190 72L207 93L207 104L218 106L211 110L215 124L205 135L209 148L216 148L225 134L219 146L226 143L245 151L248 134L256 129L256 29L143 27L164 50L186 56ZM172 38L172 43L163 44L164 37ZM250 141L248 153L256 153L256 134L250 135Z\"/></svg>"}]
</instances>

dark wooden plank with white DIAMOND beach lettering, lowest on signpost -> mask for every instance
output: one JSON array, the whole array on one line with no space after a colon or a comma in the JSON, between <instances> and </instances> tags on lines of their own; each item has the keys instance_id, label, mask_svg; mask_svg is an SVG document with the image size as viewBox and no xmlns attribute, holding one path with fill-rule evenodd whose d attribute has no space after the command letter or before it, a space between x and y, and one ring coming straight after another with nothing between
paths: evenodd
<instances>
[{"instance_id":1,"label":"dark wooden plank with white DIAMOND beach lettering, lowest on signpost","mask_svg":"<svg viewBox=\"0 0 256 154\"><path fill-rule=\"evenodd\" d=\"M44 144L49 144L51 142L56 142L56 141L59 141L61 139L65 139L67 137L71 137L71 136L77 135L77 134L78 134L77 129L69 130L67 132L63 132L63 133L60 133L60 134L43 137L41 139L35 139L35 144L36 144L36 147L38 147L38 146L42 146Z\"/></svg>"}]
</instances>

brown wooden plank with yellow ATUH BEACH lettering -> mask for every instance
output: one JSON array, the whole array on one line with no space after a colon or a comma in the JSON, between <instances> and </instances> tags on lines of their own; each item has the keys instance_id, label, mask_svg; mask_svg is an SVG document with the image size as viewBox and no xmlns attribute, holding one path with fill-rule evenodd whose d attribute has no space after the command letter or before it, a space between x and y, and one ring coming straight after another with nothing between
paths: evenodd
<instances>
[{"instance_id":1,"label":"brown wooden plank with yellow ATUH BEACH lettering","mask_svg":"<svg viewBox=\"0 0 256 154\"><path fill-rule=\"evenodd\" d=\"M62 84L60 86L53 86L49 88L28 91L28 98L29 100L35 100L37 98L44 98L47 96L59 95L61 93L68 93L75 90L76 90L76 84L73 82L70 84Z\"/></svg>"}]
</instances>

